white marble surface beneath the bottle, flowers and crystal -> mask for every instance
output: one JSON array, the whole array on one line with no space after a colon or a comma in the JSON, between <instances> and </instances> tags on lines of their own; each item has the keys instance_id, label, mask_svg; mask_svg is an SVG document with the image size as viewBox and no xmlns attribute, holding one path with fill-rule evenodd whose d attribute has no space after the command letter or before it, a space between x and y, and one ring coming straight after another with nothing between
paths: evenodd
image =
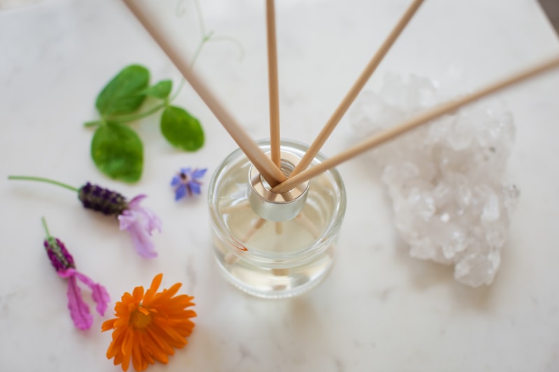
<instances>
[{"instance_id":1,"label":"white marble surface beneath the bottle, flowers and crystal","mask_svg":"<svg viewBox=\"0 0 559 372\"><path fill-rule=\"evenodd\" d=\"M199 38L194 4L142 2L191 55ZM407 3L277 1L284 137L312 140ZM264 2L202 6L208 30L238 40L244 56L232 43L212 42L196 69L252 137L266 137ZM370 84L384 71L444 79L454 66L462 78L453 88L466 91L558 52L535 0L426 1ZM81 124L96 118L99 89L130 63L148 66L154 80L180 78L120 1L45 0L0 11L1 371L119 371L105 357L103 318L87 332L73 327L65 283L43 251L41 216L78 267L107 286L113 304L159 272L164 285L181 281L196 297L189 345L151 371L559 371L559 71L499 95L517 126L509 175L522 195L491 287L466 288L447 267L409 258L382 184L361 157L339 168L348 207L331 275L303 297L269 301L219 276L205 199L173 201L173 172L185 165L213 171L235 148L189 87L177 104L201 119L201 151L170 149L157 122L146 120L138 124L142 181L120 184L94 168L92 132ZM324 153L351 141L342 122ZM83 211L68 191L7 181L8 174L148 193L146 205L164 223L154 237L159 257L140 258L117 223Z\"/></svg>"}]
</instances>

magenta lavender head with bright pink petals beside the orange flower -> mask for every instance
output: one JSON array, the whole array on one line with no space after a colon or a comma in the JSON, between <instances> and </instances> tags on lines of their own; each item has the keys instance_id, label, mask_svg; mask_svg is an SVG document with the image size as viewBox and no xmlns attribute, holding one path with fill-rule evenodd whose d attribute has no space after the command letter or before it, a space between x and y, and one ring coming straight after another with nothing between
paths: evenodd
<instances>
[{"instance_id":1,"label":"magenta lavender head with bright pink petals beside the orange flower","mask_svg":"<svg viewBox=\"0 0 559 372\"><path fill-rule=\"evenodd\" d=\"M43 226L47 234L43 245L50 258L50 263L55 267L58 276L68 279L68 310L74 325L79 329L89 329L93 324L93 315L89 313L89 306L82 299L82 291L78 287L78 280L92 290L92 298L97 304L96 311L101 316L105 315L110 296L103 285L95 283L89 276L75 269L74 259L64 243L50 236L45 218L43 218Z\"/></svg>"}]
</instances>

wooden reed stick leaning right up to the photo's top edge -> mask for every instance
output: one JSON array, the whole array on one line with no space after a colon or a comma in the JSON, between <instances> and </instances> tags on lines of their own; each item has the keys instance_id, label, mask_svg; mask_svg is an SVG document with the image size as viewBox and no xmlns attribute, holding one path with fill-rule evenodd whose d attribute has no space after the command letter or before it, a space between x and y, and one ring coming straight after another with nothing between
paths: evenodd
<instances>
[{"instance_id":1,"label":"wooden reed stick leaning right up to the photo's top edge","mask_svg":"<svg viewBox=\"0 0 559 372\"><path fill-rule=\"evenodd\" d=\"M297 167L293 170L290 177L294 177L296 174L303 172L303 170L305 170L310 165L310 163L312 163L312 160L315 156L317 156L324 142L326 142L328 137L331 135L332 131L340 122L344 114L347 112L347 109L349 109L349 106L351 105L351 103L353 103L361 89L363 89L365 83L369 80L372 73L375 72L377 66L379 66L384 56L386 56L386 53L389 52L395 40L398 38L398 36L400 36L400 34L402 34L402 31L408 24L409 20L412 19L417 9L419 9L421 3L423 3L423 0L414 0L412 4L407 8L406 12L404 13L404 15L402 15L389 36L386 38L386 40L384 40L384 43L382 43L375 56L372 57L361 75L359 75L359 77L357 78L354 85L351 87L351 89L349 89L340 105L336 107L336 110L334 111L330 119L328 119L319 135L317 135L317 137L314 139L314 142L312 142L306 154L303 156L303 158L301 158L300 163L298 163Z\"/></svg>"}]
</instances>

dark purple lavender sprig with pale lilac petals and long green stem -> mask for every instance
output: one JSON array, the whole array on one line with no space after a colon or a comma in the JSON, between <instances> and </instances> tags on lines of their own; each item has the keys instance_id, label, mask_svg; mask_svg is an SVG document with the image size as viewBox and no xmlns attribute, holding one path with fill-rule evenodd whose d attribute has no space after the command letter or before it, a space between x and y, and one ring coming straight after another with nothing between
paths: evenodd
<instances>
[{"instance_id":1,"label":"dark purple lavender sprig with pale lilac petals and long green stem","mask_svg":"<svg viewBox=\"0 0 559 372\"><path fill-rule=\"evenodd\" d=\"M78 193L78 199L82 202L84 208L99 211L108 216L116 216L119 220L120 230L126 230L130 233L134 248L140 255L145 258L157 256L150 237L154 230L161 232L161 220L150 209L140 206L141 200L145 199L146 195L137 195L128 201L116 191L89 182L80 188L75 188L42 177L9 176L8 179L46 182Z\"/></svg>"}]
</instances>

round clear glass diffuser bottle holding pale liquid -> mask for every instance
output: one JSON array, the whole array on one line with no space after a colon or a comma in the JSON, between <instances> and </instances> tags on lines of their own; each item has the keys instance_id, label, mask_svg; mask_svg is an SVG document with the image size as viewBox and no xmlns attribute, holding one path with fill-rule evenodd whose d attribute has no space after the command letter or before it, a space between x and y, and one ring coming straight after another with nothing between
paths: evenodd
<instances>
[{"instance_id":1,"label":"round clear glass diffuser bottle holding pale liquid","mask_svg":"<svg viewBox=\"0 0 559 372\"><path fill-rule=\"evenodd\" d=\"M270 142L258 144L269 154ZM282 170L289 175L307 146L282 141L281 149ZM311 166L322 161L319 154ZM213 174L208 204L215 258L224 276L251 295L300 295L320 283L333 264L346 207L344 184L337 170L329 170L307 187L299 186L295 200L291 195L281 205L259 201L259 193L269 191L269 186L259 174L251 177L254 172L238 149ZM261 189L255 191L260 181Z\"/></svg>"}]
</instances>

